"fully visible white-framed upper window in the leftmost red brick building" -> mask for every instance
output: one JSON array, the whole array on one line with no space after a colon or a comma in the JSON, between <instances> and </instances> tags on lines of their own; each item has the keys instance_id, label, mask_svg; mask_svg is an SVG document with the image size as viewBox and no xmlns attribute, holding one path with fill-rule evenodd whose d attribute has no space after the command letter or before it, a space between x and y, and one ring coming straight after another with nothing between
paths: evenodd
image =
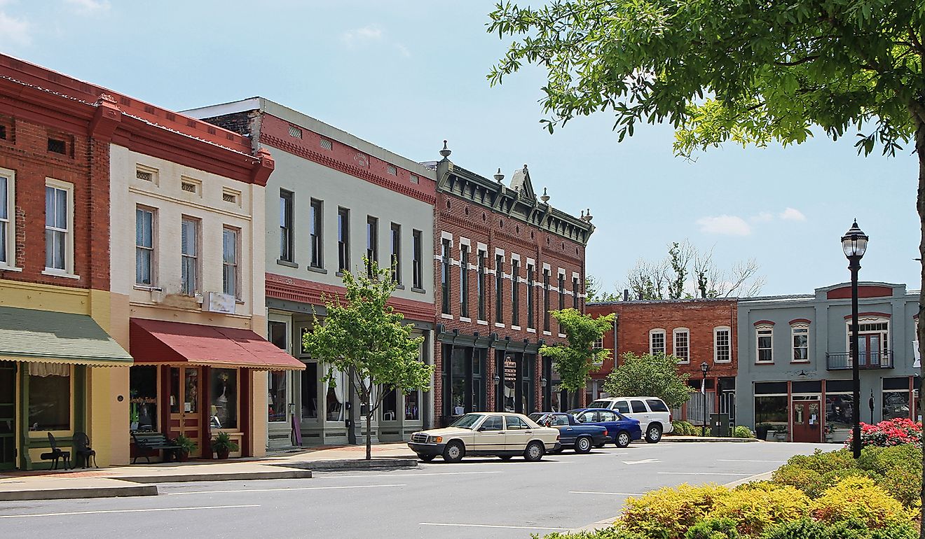
<instances>
[{"instance_id":1,"label":"fully visible white-framed upper window in the leftmost red brick building","mask_svg":"<svg viewBox=\"0 0 925 539\"><path fill-rule=\"evenodd\" d=\"M74 272L74 186L45 180L45 271Z\"/></svg>"}]
</instances>

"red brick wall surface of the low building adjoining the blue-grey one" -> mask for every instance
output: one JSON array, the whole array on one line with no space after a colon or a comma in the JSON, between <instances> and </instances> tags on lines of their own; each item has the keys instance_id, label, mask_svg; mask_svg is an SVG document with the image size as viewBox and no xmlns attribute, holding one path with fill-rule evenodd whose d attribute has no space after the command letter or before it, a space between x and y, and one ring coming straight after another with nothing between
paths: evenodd
<instances>
[{"instance_id":1,"label":"red brick wall surface of the low building adjoining the blue-grey one","mask_svg":"<svg viewBox=\"0 0 925 539\"><path fill-rule=\"evenodd\" d=\"M589 303L587 312L593 316L616 313L616 359L604 361L598 372L592 373L592 382L589 385L591 398L596 398L600 392L603 379L610 374L614 361L626 352L644 354L650 351L650 338L652 332L663 331L664 351L667 354L676 353L674 336L677 332L689 336L688 361L678 364L678 372L690 374L692 386L699 389L699 381L703 379L700 370L702 362L709 365L707 374L707 391L713 391L717 401L714 409L722 405L719 403L722 392L734 391L734 377L737 372L736 359L736 300L660 300L660 301L617 301L610 303ZM728 329L728 356L729 361L715 361L717 357L717 330ZM604 348L614 349L614 332L611 330L604 335ZM721 337L722 338L722 337ZM683 340L682 340L683 343ZM722 342L720 343L722 347ZM722 347L725 349L725 347ZM722 352L721 352L722 360ZM619 362L617 363L619 364ZM595 386L597 391L595 391ZM720 391L715 389L719 386ZM687 418L686 410L682 410L683 417L675 419L689 419L692 422L702 422L700 418Z\"/></svg>"}]
</instances>

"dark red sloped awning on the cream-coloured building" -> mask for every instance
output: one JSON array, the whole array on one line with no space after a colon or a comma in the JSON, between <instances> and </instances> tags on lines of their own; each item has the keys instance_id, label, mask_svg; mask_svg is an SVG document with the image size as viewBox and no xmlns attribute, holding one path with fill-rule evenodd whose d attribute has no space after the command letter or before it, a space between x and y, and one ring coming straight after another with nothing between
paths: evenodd
<instances>
[{"instance_id":1,"label":"dark red sloped awning on the cream-coloured building","mask_svg":"<svg viewBox=\"0 0 925 539\"><path fill-rule=\"evenodd\" d=\"M267 371L305 364L250 329L131 318L129 349L136 363L189 363Z\"/></svg>"}]
</instances>

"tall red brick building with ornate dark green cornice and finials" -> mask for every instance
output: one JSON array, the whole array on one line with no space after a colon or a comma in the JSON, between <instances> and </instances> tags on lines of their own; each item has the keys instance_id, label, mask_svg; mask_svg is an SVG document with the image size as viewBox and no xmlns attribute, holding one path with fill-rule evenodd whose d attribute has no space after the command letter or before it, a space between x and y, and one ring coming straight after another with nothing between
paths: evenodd
<instances>
[{"instance_id":1,"label":"tall red brick building with ornate dark green cornice and finials","mask_svg":"<svg viewBox=\"0 0 925 539\"><path fill-rule=\"evenodd\" d=\"M590 217L536 197L526 165L511 183L443 159L434 231L437 336L435 415L476 410L561 410L558 375L538 355L564 341L550 310L585 307Z\"/></svg>"}]
</instances>

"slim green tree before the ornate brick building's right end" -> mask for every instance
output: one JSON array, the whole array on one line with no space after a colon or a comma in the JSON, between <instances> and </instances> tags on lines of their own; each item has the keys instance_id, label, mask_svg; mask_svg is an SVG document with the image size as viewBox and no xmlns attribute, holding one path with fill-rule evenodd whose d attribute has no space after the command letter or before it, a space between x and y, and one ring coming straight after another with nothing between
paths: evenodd
<instances>
[{"instance_id":1,"label":"slim green tree before the ornate brick building's right end","mask_svg":"<svg viewBox=\"0 0 925 539\"><path fill-rule=\"evenodd\" d=\"M597 370L602 361L611 357L610 349L598 348L595 342L613 329L615 315L604 314L591 318L574 309L550 311L559 322L560 333L568 338L567 345L542 346L539 353L550 358L559 373L559 386L576 398L587 386L587 374ZM577 406L577 402L575 402Z\"/></svg>"}]
</instances>

